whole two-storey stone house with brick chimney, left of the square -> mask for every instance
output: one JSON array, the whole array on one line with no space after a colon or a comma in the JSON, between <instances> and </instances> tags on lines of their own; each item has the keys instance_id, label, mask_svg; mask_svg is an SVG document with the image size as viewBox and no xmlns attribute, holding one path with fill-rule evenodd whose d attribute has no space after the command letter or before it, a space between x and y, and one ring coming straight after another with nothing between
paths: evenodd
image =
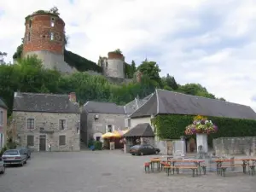
<instances>
[{"instance_id":1,"label":"whole two-storey stone house with brick chimney, left of the square","mask_svg":"<svg viewBox=\"0 0 256 192\"><path fill-rule=\"evenodd\" d=\"M35 151L78 151L79 104L68 95L15 92L13 126L18 141Z\"/></svg>"}]
</instances>

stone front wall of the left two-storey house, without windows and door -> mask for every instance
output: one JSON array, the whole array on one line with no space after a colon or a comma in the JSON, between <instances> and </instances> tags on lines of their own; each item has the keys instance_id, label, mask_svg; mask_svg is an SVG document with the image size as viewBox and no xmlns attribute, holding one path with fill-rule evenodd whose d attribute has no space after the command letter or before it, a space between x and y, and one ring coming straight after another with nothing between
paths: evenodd
<instances>
[{"instance_id":1,"label":"stone front wall of the left two-storey house, without windows and door","mask_svg":"<svg viewBox=\"0 0 256 192\"><path fill-rule=\"evenodd\" d=\"M33 144L29 148L40 151L40 137L45 136L46 151L49 151L49 143L51 143L51 151L80 150L79 113L32 113L14 111L13 118L21 146L27 146L27 136L33 136ZM34 129L27 128L28 119L34 119ZM61 119L66 121L64 130L60 130ZM61 145L59 143L60 136L66 137L66 142Z\"/></svg>"}]
</instances>

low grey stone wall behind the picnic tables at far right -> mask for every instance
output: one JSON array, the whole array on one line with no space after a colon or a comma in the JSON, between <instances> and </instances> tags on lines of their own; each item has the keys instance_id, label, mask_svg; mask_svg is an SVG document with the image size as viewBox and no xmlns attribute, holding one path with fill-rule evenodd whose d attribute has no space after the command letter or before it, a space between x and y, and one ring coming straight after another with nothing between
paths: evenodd
<instances>
[{"instance_id":1,"label":"low grey stone wall behind the picnic tables at far right","mask_svg":"<svg viewBox=\"0 0 256 192\"><path fill-rule=\"evenodd\" d=\"M256 137L220 137L213 139L213 149L219 155L256 155Z\"/></svg>"}]
</instances>

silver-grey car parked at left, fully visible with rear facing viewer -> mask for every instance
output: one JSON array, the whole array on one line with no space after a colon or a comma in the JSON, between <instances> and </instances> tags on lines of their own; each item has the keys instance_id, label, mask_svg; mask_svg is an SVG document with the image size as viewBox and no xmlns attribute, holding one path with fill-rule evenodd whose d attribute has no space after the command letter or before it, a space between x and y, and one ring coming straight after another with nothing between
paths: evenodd
<instances>
[{"instance_id":1,"label":"silver-grey car parked at left, fully visible with rear facing viewer","mask_svg":"<svg viewBox=\"0 0 256 192\"><path fill-rule=\"evenodd\" d=\"M9 149L3 153L2 156L5 165L20 165L26 164L27 154L24 148Z\"/></svg>"}]
</instances>

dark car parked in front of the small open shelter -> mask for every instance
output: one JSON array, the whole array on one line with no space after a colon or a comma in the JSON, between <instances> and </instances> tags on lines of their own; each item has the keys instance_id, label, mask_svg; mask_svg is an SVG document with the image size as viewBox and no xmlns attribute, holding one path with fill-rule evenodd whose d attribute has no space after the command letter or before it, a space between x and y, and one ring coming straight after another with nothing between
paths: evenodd
<instances>
[{"instance_id":1,"label":"dark car parked in front of the small open shelter","mask_svg":"<svg viewBox=\"0 0 256 192\"><path fill-rule=\"evenodd\" d=\"M130 154L132 155L144 155L144 154L159 154L160 149L154 148L152 145L134 145L130 149Z\"/></svg>"}]
</instances>

